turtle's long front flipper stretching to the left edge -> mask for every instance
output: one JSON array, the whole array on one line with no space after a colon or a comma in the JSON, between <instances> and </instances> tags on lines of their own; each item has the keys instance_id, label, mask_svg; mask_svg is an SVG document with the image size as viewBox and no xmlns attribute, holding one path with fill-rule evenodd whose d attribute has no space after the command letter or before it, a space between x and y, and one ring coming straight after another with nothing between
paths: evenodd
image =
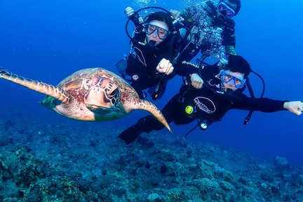
<instances>
[{"instance_id":1,"label":"turtle's long front flipper stretching to the left edge","mask_svg":"<svg viewBox=\"0 0 303 202\"><path fill-rule=\"evenodd\" d=\"M56 88L53 85L18 76L16 74L13 74L12 72L8 72L8 70L4 68L0 68L0 78L12 81L13 83L18 83L21 86L25 86L39 93L50 95L51 97L60 100L62 104L67 103L70 99L70 95L64 93L64 91L59 88Z\"/></svg>"}]
</instances>

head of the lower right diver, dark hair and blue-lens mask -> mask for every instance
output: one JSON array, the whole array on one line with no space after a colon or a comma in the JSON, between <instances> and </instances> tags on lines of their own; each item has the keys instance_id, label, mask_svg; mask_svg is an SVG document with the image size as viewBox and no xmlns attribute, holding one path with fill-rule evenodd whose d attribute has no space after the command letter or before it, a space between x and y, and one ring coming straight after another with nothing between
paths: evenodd
<instances>
[{"instance_id":1,"label":"head of the lower right diver, dark hair and blue-lens mask","mask_svg":"<svg viewBox=\"0 0 303 202\"><path fill-rule=\"evenodd\" d=\"M224 91L243 88L250 71L250 65L243 57L230 55L227 65L220 72Z\"/></svg>"}]
</instances>

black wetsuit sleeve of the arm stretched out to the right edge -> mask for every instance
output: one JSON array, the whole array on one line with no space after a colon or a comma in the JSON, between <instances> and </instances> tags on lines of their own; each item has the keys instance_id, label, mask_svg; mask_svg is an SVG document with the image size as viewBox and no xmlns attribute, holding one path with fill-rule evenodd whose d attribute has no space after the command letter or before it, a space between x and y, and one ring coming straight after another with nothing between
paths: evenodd
<instances>
[{"instance_id":1,"label":"black wetsuit sleeve of the arm stretched out to the right edge","mask_svg":"<svg viewBox=\"0 0 303 202\"><path fill-rule=\"evenodd\" d=\"M233 109L253 110L260 112L278 112L287 110L283 105L288 100L272 100L269 98L251 98L244 94L239 95L232 103Z\"/></svg>"}]
</instances>

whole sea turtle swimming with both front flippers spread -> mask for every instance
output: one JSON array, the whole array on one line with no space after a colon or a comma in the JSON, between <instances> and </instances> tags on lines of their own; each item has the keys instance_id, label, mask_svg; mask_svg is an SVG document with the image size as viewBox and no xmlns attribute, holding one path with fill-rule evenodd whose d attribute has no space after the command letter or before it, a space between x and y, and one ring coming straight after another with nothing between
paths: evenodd
<instances>
[{"instance_id":1,"label":"whole sea turtle swimming with both front flippers spread","mask_svg":"<svg viewBox=\"0 0 303 202\"><path fill-rule=\"evenodd\" d=\"M125 116L133 109L143 109L170 130L163 114L152 102L141 100L126 81L100 67L74 72L57 86L26 79L3 68L0 68L0 78L47 95L41 105L70 119L108 121Z\"/></svg>"}]
</instances>

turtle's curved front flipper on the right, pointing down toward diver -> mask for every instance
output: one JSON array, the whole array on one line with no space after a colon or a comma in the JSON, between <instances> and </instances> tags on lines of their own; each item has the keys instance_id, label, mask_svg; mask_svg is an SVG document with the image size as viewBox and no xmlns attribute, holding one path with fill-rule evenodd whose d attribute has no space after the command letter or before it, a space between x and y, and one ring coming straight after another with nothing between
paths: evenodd
<instances>
[{"instance_id":1,"label":"turtle's curved front flipper on the right, pointing down toward diver","mask_svg":"<svg viewBox=\"0 0 303 202\"><path fill-rule=\"evenodd\" d=\"M123 104L123 107L126 112L130 112L133 109L143 109L149 113L151 113L158 121L160 121L170 132L170 126L168 126L168 123L163 116L162 112L154 105L152 102L149 102L147 100L141 100L139 98L133 98L128 100L128 102Z\"/></svg>"}]
</instances>

